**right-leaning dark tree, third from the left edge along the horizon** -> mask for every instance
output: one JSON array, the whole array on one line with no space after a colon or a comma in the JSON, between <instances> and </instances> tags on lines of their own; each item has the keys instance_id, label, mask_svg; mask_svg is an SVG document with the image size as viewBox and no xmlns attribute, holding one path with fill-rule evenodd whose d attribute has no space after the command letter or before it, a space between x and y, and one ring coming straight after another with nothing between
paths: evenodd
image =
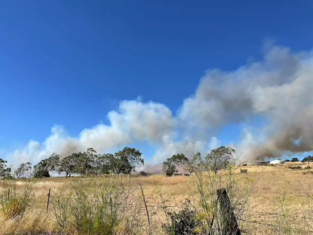
<instances>
[{"instance_id":1,"label":"right-leaning dark tree, third from the left edge along the horizon","mask_svg":"<svg viewBox=\"0 0 313 235\"><path fill-rule=\"evenodd\" d=\"M50 177L49 171L54 171L59 166L60 155L53 153L49 158L41 160L37 165L34 165L34 177Z\"/></svg>"}]
</instances>

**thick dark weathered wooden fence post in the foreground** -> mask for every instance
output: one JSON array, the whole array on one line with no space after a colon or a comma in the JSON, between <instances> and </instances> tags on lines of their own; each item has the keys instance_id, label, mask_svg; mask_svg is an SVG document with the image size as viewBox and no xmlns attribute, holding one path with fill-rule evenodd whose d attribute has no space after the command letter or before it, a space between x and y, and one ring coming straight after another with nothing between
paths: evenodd
<instances>
[{"instance_id":1,"label":"thick dark weathered wooden fence post in the foreground","mask_svg":"<svg viewBox=\"0 0 313 235\"><path fill-rule=\"evenodd\" d=\"M240 235L237 218L231 208L230 200L227 195L226 189L221 188L217 191L217 198L220 205L220 218L222 234L224 235Z\"/></svg>"}]
</instances>

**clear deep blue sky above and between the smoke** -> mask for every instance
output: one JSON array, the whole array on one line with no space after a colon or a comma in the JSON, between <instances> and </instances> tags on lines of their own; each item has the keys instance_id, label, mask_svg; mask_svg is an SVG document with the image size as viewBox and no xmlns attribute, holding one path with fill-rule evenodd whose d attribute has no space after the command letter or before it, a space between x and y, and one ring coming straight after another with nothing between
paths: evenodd
<instances>
[{"instance_id":1,"label":"clear deep blue sky above and between the smoke","mask_svg":"<svg viewBox=\"0 0 313 235\"><path fill-rule=\"evenodd\" d=\"M269 39L295 52L310 51L313 41L310 1L2 1L0 22L4 154L44 142L55 124L71 137L110 125L108 112L138 96L177 117L206 70L262 61ZM203 140L238 144L244 127L267 122L248 116L218 123ZM148 142L124 145L149 158L159 145Z\"/></svg>"}]
</instances>

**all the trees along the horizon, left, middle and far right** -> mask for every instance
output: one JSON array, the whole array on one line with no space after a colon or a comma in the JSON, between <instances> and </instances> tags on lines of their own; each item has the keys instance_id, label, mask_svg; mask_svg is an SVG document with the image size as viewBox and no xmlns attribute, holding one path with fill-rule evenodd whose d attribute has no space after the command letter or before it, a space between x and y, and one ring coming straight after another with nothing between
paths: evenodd
<instances>
[{"instance_id":1,"label":"all the trees along the horizon, left, middle and far right","mask_svg":"<svg viewBox=\"0 0 313 235\"><path fill-rule=\"evenodd\" d=\"M313 145L310 147L313 148ZM192 159L178 153L163 162L162 170L167 176L171 176L178 172L177 167L182 166L189 174L192 174L196 170L197 162L201 161L212 173L217 174L219 170L231 164L234 153L236 150L224 146L212 149L203 158L199 152L194 154ZM299 159L292 158L285 161L296 162ZM310 164L309 162L313 161L313 156L307 156L301 161ZM125 147L115 154L97 154L93 148L89 148L83 153L73 153L64 158L53 153L47 159L34 165L33 168L31 165L30 162L22 163L14 169L13 166L7 166L7 161L0 158L0 178L20 178L27 173L35 178L50 177L51 171L57 171L58 174L66 177L71 175L94 175L96 177L97 175L112 173L130 174L135 172L137 165L144 165L144 160L141 158L141 152L135 148ZM143 171L140 174L146 175Z\"/></svg>"}]
</instances>

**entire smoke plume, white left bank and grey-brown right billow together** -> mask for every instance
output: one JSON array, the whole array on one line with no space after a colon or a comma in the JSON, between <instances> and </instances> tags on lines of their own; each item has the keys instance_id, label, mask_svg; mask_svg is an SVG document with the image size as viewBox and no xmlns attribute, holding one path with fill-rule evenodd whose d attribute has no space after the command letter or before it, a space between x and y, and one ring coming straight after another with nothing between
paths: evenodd
<instances>
[{"instance_id":1,"label":"entire smoke plume, white left bank and grey-brown right billow together","mask_svg":"<svg viewBox=\"0 0 313 235\"><path fill-rule=\"evenodd\" d=\"M71 137L55 125L44 143L29 141L24 149L8 154L12 162L37 163L53 152L67 156L94 148L98 152L147 141L157 150L149 163L157 164L184 152L190 141L208 152L221 142L214 131L230 123L246 123L239 151L243 159L278 157L310 151L313 144L313 54L287 47L265 45L263 61L235 71L207 70L194 95L186 98L173 116L164 104L122 101L108 113L110 125L98 124ZM266 124L251 120L259 115ZM123 146L123 147L124 147Z\"/></svg>"}]
</instances>

